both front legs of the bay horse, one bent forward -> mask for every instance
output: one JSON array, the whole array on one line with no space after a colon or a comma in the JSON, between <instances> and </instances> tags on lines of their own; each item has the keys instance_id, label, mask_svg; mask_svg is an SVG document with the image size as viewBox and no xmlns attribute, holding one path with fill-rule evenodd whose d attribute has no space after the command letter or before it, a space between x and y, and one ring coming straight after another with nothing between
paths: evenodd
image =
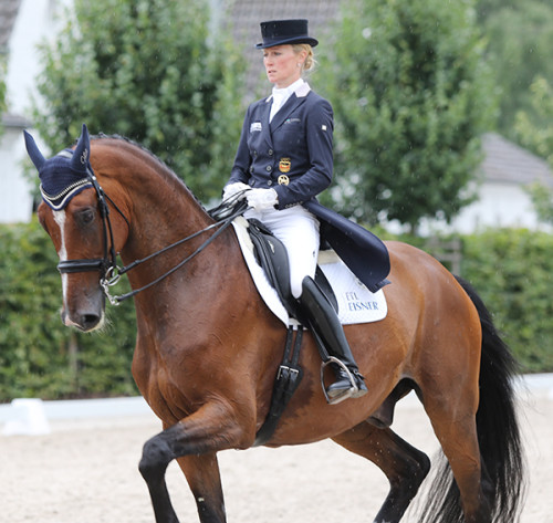
<instances>
[{"instance_id":1,"label":"both front legs of the bay horse, one bent forward","mask_svg":"<svg viewBox=\"0 0 553 523\"><path fill-rule=\"evenodd\" d=\"M157 523L178 523L165 481L177 458L196 498L201 523L225 523L225 503L216 452L240 446L242 431L221 406L205 406L154 438L143 451L139 470L145 479Z\"/></svg>"}]
</instances>

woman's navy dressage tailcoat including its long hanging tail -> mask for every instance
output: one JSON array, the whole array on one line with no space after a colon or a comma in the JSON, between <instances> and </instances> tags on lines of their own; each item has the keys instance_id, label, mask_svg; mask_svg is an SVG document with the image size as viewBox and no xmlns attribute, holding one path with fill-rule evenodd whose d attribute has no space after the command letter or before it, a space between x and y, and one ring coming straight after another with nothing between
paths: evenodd
<instances>
[{"instance_id":1,"label":"woman's navy dressage tailcoat including its long hanging tail","mask_svg":"<svg viewBox=\"0 0 553 523\"><path fill-rule=\"evenodd\" d=\"M272 96L248 107L229 184L274 189L278 209L302 205L321 222L321 236L371 290L385 283L389 257L372 232L325 208L315 196L333 174L331 104L303 84L269 123Z\"/></svg>"}]
</instances>

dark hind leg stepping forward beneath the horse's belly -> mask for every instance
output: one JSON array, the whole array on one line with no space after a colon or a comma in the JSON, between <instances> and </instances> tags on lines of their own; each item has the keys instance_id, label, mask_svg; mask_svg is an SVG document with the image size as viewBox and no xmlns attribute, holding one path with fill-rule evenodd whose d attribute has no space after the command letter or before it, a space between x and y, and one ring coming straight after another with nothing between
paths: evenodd
<instances>
[{"instance_id":1,"label":"dark hind leg stepping forward beneath the horse's belly","mask_svg":"<svg viewBox=\"0 0 553 523\"><path fill-rule=\"evenodd\" d=\"M390 489L374 523L398 523L430 469L428 457L389 428L377 428L368 422L333 440L373 461L386 474Z\"/></svg>"}]
</instances>

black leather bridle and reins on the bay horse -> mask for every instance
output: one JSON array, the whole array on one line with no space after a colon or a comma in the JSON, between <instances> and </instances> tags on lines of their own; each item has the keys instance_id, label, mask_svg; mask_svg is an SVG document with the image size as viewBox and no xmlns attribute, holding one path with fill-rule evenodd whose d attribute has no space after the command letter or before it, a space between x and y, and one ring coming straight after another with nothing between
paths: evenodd
<instances>
[{"instance_id":1,"label":"black leather bridle and reins on the bay horse","mask_svg":"<svg viewBox=\"0 0 553 523\"><path fill-rule=\"evenodd\" d=\"M60 153L61 155L64 155L66 157L71 157L72 150L64 150ZM164 247L163 249L153 252L152 254L147 255L146 258L143 258L140 260L135 260L128 265L119 268L117 265L117 253L115 252L115 242L114 242L114 236L113 236L113 227L112 227L112 220L109 218L109 207L107 202L109 202L113 208L123 217L125 222L127 223L127 227L131 229L131 222L128 219L125 217L123 211L117 207L117 205L104 192L104 189L100 186L96 176L94 175L94 171L92 168L88 166L86 169L88 181L91 182L92 187L94 188L96 192L96 199L98 202L98 210L100 210L100 217L102 219L102 229L103 229L103 249L104 249L104 255L103 258L92 258L92 259L75 259L75 260L63 260L58 264L58 270L60 271L61 274L67 274L67 273L77 273L77 272L100 272L100 285L102 286L102 290L109 301L112 305L118 305L121 302L138 294L142 291L145 291L146 289L149 289L157 283L159 283L161 280L166 279L174 272L178 271L182 265L185 265L187 262L189 262L192 258L195 258L197 254L199 254L204 249L206 249L210 243L212 243L217 237L219 237L231 223L234 218L238 216L241 216L246 209L247 209L247 202L246 200L240 200L239 196L237 195L236 197L230 198L228 201L225 201L221 203L219 207L212 209L209 211L209 215L215 218L216 221L215 223L211 223L210 226L206 227L205 229L201 229L189 237L182 238L181 240L176 241L175 243L171 243L167 247ZM153 258L156 258L170 249L181 245L182 243L186 243L189 240L192 240L194 238L199 237L200 234L210 231L211 229L217 229L218 230L215 232L215 234L210 236L200 247L198 247L191 254L189 254L187 258L181 260L179 263L177 263L174 268L169 269L167 272L161 274L160 276L156 278L154 281L149 282L148 284L135 289L131 292L127 292L125 294L121 295L112 295L109 293L109 287L115 285L121 276L123 276L125 273L131 271L132 269L135 269L136 266L140 265L142 263L145 263Z\"/></svg>"}]
</instances>

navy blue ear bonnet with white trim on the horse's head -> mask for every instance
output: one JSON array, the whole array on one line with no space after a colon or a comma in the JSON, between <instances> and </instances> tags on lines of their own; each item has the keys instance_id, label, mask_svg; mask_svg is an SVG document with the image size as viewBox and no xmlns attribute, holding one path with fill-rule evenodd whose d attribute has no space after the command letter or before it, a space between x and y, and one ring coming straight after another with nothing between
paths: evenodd
<instances>
[{"instance_id":1,"label":"navy blue ear bonnet with white trim on the horse's head","mask_svg":"<svg viewBox=\"0 0 553 523\"><path fill-rule=\"evenodd\" d=\"M56 156L45 159L32 136L24 132L29 156L39 170L42 199L54 210L61 210L71 198L92 184L92 168L88 161L90 138L86 126L79 138L75 150L64 149Z\"/></svg>"}]
</instances>

